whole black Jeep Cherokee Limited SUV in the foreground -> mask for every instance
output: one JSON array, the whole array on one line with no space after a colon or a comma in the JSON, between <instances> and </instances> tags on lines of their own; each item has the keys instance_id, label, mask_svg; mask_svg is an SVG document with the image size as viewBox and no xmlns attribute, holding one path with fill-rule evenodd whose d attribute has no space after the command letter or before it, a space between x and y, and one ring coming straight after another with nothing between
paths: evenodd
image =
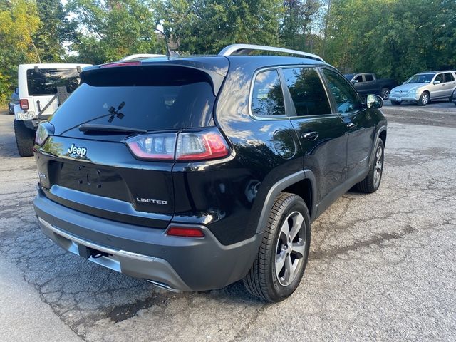
<instances>
[{"instance_id":1,"label":"whole black Jeep Cherokee Limited SUV in the foreground","mask_svg":"<svg viewBox=\"0 0 456 342\"><path fill-rule=\"evenodd\" d=\"M38 128L38 221L63 249L164 289L243 279L281 301L311 222L355 185L378 189L382 104L318 56L268 46L85 68Z\"/></svg>"}]
</instances>

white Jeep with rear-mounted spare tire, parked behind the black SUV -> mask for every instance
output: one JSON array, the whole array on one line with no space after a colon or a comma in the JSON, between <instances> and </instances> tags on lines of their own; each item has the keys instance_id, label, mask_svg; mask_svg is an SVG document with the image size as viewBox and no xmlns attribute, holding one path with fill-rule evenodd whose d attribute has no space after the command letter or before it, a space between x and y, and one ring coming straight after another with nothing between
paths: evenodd
<instances>
[{"instance_id":1,"label":"white Jeep with rear-mounted spare tire, parked behind the black SUV","mask_svg":"<svg viewBox=\"0 0 456 342\"><path fill-rule=\"evenodd\" d=\"M21 64L19 106L14 109L14 133L21 157L33 155L38 123L48 119L79 85L81 68L90 64Z\"/></svg>"}]
</instances>

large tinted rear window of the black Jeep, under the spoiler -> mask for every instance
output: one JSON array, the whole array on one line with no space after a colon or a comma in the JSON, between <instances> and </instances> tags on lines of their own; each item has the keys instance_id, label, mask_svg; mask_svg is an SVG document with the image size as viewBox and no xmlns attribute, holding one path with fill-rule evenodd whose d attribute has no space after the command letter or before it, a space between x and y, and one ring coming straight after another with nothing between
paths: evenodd
<instances>
[{"instance_id":1,"label":"large tinted rear window of the black Jeep, under the spoiler","mask_svg":"<svg viewBox=\"0 0 456 342\"><path fill-rule=\"evenodd\" d=\"M89 122L142 130L179 130L213 123L215 95L201 71L130 66L106 68L82 79L81 86L53 115L51 122L60 131ZM123 115L115 115L109 122L112 110Z\"/></svg>"}]
</instances>

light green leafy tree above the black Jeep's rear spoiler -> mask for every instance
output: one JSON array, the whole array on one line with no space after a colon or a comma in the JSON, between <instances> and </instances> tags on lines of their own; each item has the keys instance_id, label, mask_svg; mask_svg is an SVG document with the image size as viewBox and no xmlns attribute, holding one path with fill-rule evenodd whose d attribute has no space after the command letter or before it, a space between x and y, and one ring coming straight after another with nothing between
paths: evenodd
<instances>
[{"instance_id":1,"label":"light green leafy tree above the black Jeep's rear spoiler","mask_svg":"<svg viewBox=\"0 0 456 342\"><path fill-rule=\"evenodd\" d=\"M77 32L71 50L79 62L117 61L133 53L163 53L155 16L142 0L70 0Z\"/></svg>"}]
</instances>

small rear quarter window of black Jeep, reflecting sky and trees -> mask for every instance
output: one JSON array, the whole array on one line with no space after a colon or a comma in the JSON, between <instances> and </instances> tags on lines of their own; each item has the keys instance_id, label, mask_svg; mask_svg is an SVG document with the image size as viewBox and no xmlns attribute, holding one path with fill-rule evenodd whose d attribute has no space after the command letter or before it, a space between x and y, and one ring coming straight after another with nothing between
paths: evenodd
<instances>
[{"instance_id":1,"label":"small rear quarter window of black Jeep, reflecting sky and trees","mask_svg":"<svg viewBox=\"0 0 456 342\"><path fill-rule=\"evenodd\" d=\"M252 113L256 116L285 115L284 94L276 70L263 71L255 78Z\"/></svg>"}]
</instances>

